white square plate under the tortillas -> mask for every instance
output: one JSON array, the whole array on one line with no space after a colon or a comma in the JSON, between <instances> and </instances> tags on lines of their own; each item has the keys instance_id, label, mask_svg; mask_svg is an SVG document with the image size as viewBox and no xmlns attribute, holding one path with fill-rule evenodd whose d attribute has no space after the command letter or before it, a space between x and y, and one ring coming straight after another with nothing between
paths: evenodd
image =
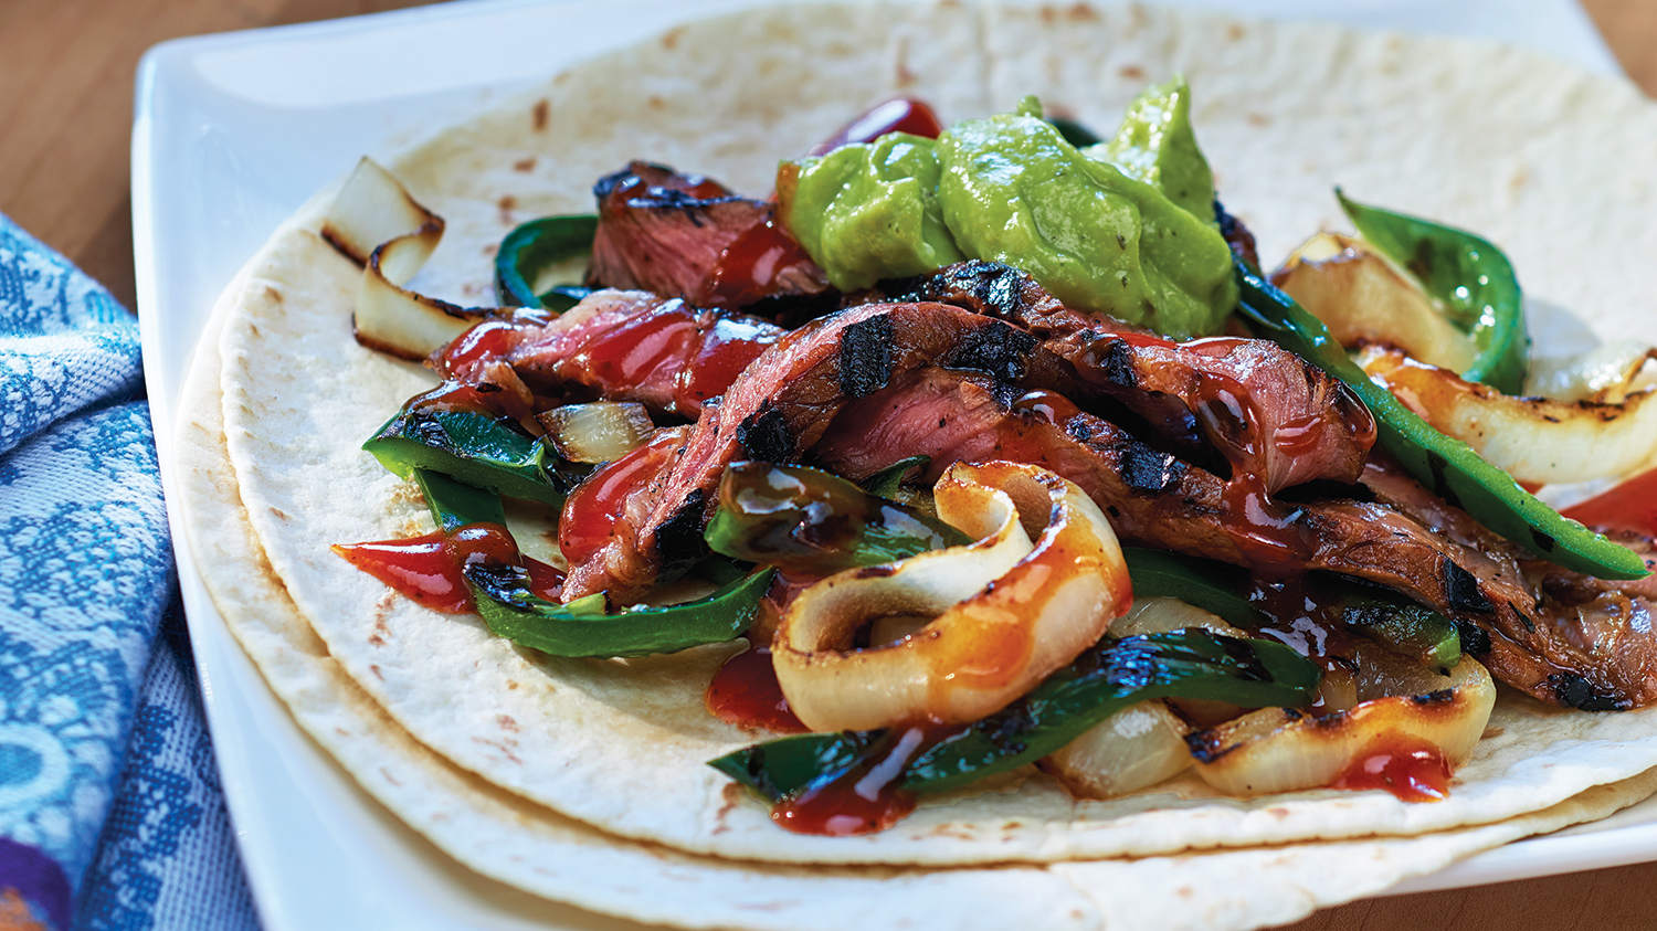
<instances>
[{"instance_id":1,"label":"white square plate under the tortillas","mask_svg":"<svg viewBox=\"0 0 1657 931\"><path fill-rule=\"evenodd\" d=\"M186 38L138 75L133 235L162 482L177 489L179 391L214 300L313 191L580 58L756 0L469 0L355 20ZM1488 36L1616 73L1572 0L1185 0L1241 15ZM434 68L431 63L442 63ZM459 866L373 802L293 724L230 638L169 507L225 798L270 931L638 924L547 903ZM1657 802L1514 843L1399 891L1657 856Z\"/></svg>"}]
</instances>

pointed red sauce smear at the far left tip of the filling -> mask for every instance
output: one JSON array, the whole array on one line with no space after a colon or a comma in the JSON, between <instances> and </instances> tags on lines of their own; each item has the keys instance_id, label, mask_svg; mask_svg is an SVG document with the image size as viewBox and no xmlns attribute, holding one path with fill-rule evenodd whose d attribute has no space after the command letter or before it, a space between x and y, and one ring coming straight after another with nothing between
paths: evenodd
<instances>
[{"instance_id":1,"label":"pointed red sauce smear at the far left tip of the filling","mask_svg":"<svg viewBox=\"0 0 1657 931\"><path fill-rule=\"evenodd\" d=\"M499 523L467 523L451 532L408 540L335 543L345 562L378 578L409 600L447 615L476 611L472 590L461 568L474 562L505 562L529 572L530 591L557 601L563 573L522 555L512 533Z\"/></svg>"}]
</instances>

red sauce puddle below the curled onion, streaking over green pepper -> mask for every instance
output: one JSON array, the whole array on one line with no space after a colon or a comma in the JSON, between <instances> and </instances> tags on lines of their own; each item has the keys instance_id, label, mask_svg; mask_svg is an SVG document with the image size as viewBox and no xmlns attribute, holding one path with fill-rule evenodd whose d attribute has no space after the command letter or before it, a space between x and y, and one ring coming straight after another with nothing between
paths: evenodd
<instances>
[{"instance_id":1,"label":"red sauce puddle below the curled onion, streaking over green pepper","mask_svg":"<svg viewBox=\"0 0 1657 931\"><path fill-rule=\"evenodd\" d=\"M903 769L961 726L911 724L886 732L875 752L840 775L809 785L771 808L771 820L794 833L850 837L875 833L915 810L900 789Z\"/></svg>"}]
</instances>

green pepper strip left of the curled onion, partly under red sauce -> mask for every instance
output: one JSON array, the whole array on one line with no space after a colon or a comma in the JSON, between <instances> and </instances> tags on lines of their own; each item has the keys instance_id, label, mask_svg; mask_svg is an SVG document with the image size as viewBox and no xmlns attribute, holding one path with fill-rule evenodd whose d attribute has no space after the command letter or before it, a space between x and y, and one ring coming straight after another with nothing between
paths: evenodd
<instances>
[{"instance_id":1,"label":"green pepper strip left of the curled onion, partly under red sauce","mask_svg":"<svg viewBox=\"0 0 1657 931\"><path fill-rule=\"evenodd\" d=\"M447 475L416 469L432 520L444 530L505 523L500 499ZM553 656L648 656L726 643L747 630L771 586L771 570L744 575L708 598L664 608L605 613L603 593L557 605L534 595L524 567L472 562L461 573L489 631Z\"/></svg>"}]
</instances>

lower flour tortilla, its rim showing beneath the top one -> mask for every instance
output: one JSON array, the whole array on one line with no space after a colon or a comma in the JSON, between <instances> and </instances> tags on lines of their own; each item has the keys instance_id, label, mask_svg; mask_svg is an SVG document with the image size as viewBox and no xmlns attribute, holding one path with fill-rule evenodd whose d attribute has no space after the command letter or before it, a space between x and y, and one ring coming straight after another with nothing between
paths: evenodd
<instances>
[{"instance_id":1,"label":"lower flour tortilla, its rim showing beneath the top one","mask_svg":"<svg viewBox=\"0 0 1657 931\"><path fill-rule=\"evenodd\" d=\"M265 558L240 499L217 384L222 323L215 315L202 343L177 436L186 525L215 606L298 724L378 802L459 863L555 901L635 921L752 931L1241 931L1607 817L1657 790L1652 770L1546 812L1417 838L943 871L732 863L606 835L434 754L328 654Z\"/></svg>"}]
</instances>

